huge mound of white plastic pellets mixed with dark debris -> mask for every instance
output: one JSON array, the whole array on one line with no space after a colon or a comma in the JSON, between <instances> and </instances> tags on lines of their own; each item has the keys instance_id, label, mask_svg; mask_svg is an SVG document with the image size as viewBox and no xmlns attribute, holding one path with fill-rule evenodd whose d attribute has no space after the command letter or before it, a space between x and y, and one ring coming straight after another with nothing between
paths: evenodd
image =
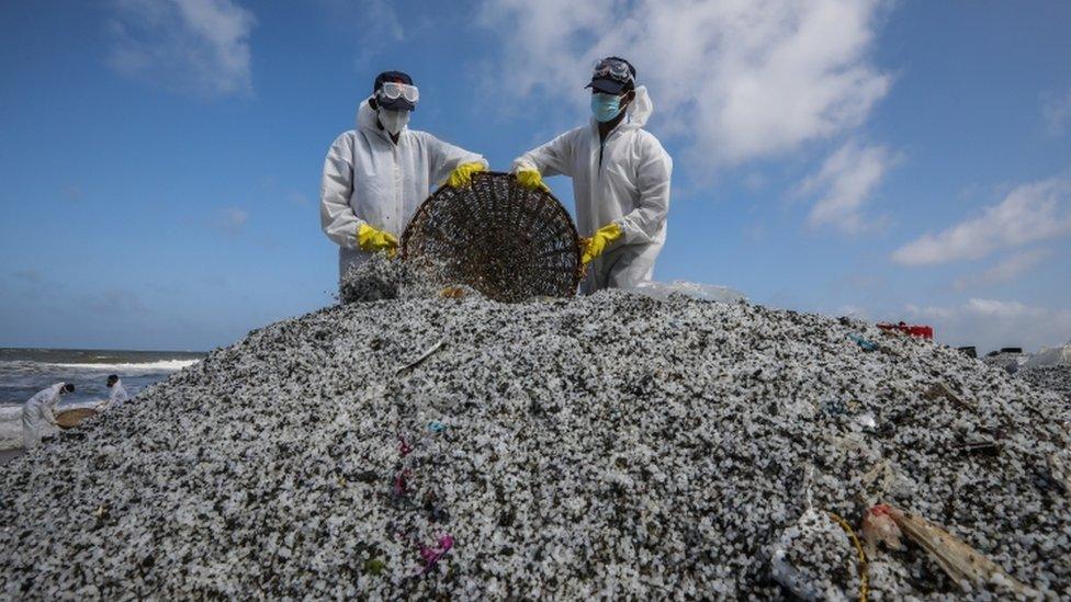
<instances>
[{"instance_id":1,"label":"huge mound of white plastic pellets mixed with dark debris","mask_svg":"<svg viewBox=\"0 0 1071 602\"><path fill-rule=\"evenodd\" d=\"M858 529L877 500L1071 595L1055 394L747 304L397 293L256 330L8 464L0 595L777 599L778 542L838 536L789 533L809 504ZM853 597L844 537L785 556ZM875 599L962 593L917 547L879 560Z\"/></svg>"}]
</instances>

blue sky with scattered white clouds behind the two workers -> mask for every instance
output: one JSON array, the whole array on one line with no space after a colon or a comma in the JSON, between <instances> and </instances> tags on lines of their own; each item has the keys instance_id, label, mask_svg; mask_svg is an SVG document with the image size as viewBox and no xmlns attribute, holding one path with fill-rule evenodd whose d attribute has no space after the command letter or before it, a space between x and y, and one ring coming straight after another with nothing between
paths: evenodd
<instances>
[{"instance_id":1,"label":"blue sky with scattered white clouds behind the two workers","mask_svg":"<svg viewBox=\"0 0 1071 602\"><path fill-rule=\"evenodd\" d=\"M1061 1L5 2L0 345L203 350L329 304L320 168L376 72L504 170L586 122L609 54L675 159L658 280L1059 344L1069 29Z\"/></svg>"}]
</instances>

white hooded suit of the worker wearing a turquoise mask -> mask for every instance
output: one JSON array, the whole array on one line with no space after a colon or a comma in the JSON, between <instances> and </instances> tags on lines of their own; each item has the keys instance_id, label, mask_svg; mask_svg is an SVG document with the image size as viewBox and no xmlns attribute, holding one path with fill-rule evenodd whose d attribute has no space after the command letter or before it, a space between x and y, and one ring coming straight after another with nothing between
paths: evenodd
<instances>
[{"instance_id":1,"label":"white hooded suit of the worker wearing a turquoise mask","mask_svg":"<svg viewBox=\"0 0 1071 602\"><path fill-rule=\"evenodd\" d=\"M566 132L526 152L514 169L536 169L544 175L573 179L576 225L589 237L611 222L622 236L588 264L580 285L585 293L628 288L650 281L666 241L669 178L673 160L658 139L641 129L654 107L646 88L636 88L625 117L599 140L599 122Z\"/></svg>"}]
</instances>

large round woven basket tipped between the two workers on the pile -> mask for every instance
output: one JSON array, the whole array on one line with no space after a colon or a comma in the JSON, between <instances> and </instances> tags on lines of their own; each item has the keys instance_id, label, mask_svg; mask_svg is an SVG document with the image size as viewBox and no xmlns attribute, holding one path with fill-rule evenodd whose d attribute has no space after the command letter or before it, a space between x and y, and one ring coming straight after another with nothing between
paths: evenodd
<instances>
[{"instance_id":1,"label":"large round woven basket tipped between the two workers on the pile","mask_svg":"<svg viewBox=\"0 0 1071 602\"><path fill-rule=\"evenodd\" d=\"M442 186L402 235L402 258L488 298L571 297L580 282L576 226L554 195L509 173L478 172L464 189Z\"/></svg>"}]
</instances>

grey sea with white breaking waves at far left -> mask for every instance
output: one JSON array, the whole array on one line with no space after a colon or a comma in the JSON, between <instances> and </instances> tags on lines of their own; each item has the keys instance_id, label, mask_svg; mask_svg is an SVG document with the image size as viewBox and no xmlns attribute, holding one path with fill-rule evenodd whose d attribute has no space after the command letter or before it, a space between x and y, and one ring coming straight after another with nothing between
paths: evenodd
<instances>
[{"instance_id":1,"label":"grey sea with white breaking waves at far left","mask_svg":"<svg viewBox=\"0 0 1071 602\"><path fill-rule=\"evenodd\" d=\"M59 409L80 408L108 399L109 374L117 374L131 397L206 354L193 351L119 351L0 348L0 450L22 443L22 405L56 383L71 383Z\"/></svg>"}]
</instances>

